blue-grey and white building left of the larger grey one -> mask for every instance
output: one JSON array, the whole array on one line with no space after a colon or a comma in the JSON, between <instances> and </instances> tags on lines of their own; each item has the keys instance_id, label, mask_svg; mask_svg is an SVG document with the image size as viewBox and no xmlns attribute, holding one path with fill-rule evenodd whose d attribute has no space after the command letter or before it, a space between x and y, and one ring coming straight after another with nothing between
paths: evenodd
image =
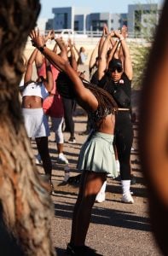
<instances>
[{"instance_id":1,"label":"blue-grey and white building left of the larger grey one","mask_svg":"<svg viewBox=\"0 0 168 256\"><path fill-rule=\"evenodd\" d=\"M75 7L54 8L52 13L54 19L47 21L46 30L73 29L82 32L100 32L104 24L107 24L109 30L127 25L126 14L90 13L90 9Z\"/></svg>"}]
</instances>

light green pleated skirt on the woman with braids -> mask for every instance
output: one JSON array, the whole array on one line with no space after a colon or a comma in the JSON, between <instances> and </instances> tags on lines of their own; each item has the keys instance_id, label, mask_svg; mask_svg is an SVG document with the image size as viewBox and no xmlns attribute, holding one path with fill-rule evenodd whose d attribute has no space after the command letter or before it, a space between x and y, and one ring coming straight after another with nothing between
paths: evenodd
<instances>
[{"instance_id":1,"label":"light green pleated skirt on the woman with braids","mask_svg":"<svg viewBox=\"0 0 168 256\"><path fill-rule=\"evenodd\" d=\"M80 150L78 171L105 172L118 177L113 150L113 135L94 132Z\"/></svg>"}]
</instances>

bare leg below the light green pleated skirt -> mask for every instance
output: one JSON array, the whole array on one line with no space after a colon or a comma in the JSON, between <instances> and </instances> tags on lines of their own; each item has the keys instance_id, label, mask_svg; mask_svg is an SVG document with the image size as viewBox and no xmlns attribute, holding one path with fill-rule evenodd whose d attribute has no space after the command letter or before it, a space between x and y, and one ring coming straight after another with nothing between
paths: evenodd
<instances>
[{"instance_id":1,"label":"bare leg below the light green pleated skirt","mask_svg":"<svg viewBox=\"0 0 168 256\"><path fill-rule=\"evenodd\" d=\"M105 173L84 171L82 174L78 199L72 217L71 243L75 246L84 246L90 225L91 210L96 200L96 195L105 180Z\"/></svg>"}]
</instances>

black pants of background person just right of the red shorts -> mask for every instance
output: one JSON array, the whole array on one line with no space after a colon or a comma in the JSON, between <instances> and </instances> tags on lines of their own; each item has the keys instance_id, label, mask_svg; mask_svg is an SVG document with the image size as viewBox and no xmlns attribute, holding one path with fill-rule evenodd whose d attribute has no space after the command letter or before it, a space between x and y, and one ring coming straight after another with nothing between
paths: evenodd
<instances>
[{"instance_id":1,"label":"black pants of background person just right of the red shorts","mask_svg":"<svg viewBox=\"0 0 168 256\"><path fill-rule=\"evenodd\" d=\"M69 131L71 137L74 137L74 121L72 119L74 110L76 108L76 102L72 99L62 98L64 107L64 118L66 123L66 131Z\"/></svg>"}]
</instances>

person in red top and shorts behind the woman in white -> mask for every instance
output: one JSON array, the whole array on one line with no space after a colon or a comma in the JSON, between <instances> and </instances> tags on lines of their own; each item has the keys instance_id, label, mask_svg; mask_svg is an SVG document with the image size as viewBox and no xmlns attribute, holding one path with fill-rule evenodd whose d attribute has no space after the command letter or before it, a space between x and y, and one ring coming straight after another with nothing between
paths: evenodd
<instances>
[{"instance_id":1,"label":"person in red top and shorts behind the woman in white","mask_svg":"<svg viewBox=\"0 0 168 256\"><path fill-rule=\"evenodd\" d=\"M47 37L44 38L45 42L49 39L55 39L55 33L53 31L49 31ZM54 52L56 52L57 46L58 40L55 39ZM35 62L38 70L38 76L46 77L45 58L40 51L38 51L38 54L36 55ZM55 143L58 154L57 162L61 164L68 164L68 160L63 153L64 136L62 132L62 125L64 121L64 108L62 98L56 88L56 79L58 77L59 70L55 66L51 65L51 71L53 75L53 89L49 92L49 96L43 101L43 111L47 117L50 117L52 130L55 132Z\"/></svg>"}]
</instances>

